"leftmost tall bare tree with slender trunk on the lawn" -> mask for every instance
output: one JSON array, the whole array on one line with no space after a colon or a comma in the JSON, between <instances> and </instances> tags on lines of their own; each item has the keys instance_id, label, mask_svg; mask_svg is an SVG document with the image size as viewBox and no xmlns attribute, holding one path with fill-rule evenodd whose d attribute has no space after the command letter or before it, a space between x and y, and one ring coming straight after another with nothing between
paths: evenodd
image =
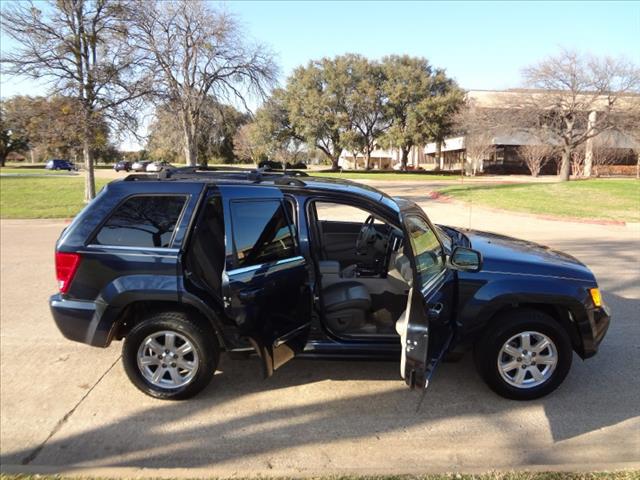
<instances>
[{"instance_id":1,"label":"leftmost tall bare tree with slender trunk on the lawn","mask_svg":"<svg viewBox=\"0 0 640 480\"><path fill-rule=\"evenodd\" d=\"M3 52L2 71L43 79L52 93L78 99L89 201L95 196L91 146L98 114L131 127L136 109L124 107L144 92L126 37L130 11L120 0L52 0L39 6L14 2L0 12L3 31L20 44L15 52Z\"/></svg>"}]
</instances>

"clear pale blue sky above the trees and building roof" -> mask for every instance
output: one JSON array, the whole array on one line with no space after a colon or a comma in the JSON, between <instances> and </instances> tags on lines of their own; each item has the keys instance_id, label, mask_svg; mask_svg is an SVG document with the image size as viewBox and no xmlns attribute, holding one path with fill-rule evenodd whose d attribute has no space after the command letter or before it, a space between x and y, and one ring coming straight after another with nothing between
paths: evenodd
<instances>
[{"instance_id":1,"label":"clear pale blue sky above the trees and building roof","mask_svg":"<svg viewBox=\"0 0 640 480\"><path fill-rule=\"evenodd\" d=\"M2 1L4 3L4 1ZM215 3L215 5L221 5ZM640 64L640 2L228 1L247 33L276 53L281 81L300 64L347 52L423 56L465 89L519 86L521 69L560 47ZM4 36L3 51L14 46ZM44 94L2 78L0 95Z\"/></svg>"}]
</instances>

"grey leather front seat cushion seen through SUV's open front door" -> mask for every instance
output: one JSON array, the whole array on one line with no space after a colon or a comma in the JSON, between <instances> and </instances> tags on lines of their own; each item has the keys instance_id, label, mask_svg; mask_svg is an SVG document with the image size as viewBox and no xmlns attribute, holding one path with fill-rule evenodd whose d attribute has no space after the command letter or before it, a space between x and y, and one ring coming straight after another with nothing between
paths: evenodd
<instances>
[{"instance_id":1,"label":"grey leather front seat cushion seen through SUV's open front door","mask_svg":"<svg viewBox=\"0 0 640 480\"><path fill-rule=\"evenodd\" d=\"M367 323L371 296L359 282L338 282L322 290L324 319L336 333L375 333Z\"/></svg>"}]
</instances>

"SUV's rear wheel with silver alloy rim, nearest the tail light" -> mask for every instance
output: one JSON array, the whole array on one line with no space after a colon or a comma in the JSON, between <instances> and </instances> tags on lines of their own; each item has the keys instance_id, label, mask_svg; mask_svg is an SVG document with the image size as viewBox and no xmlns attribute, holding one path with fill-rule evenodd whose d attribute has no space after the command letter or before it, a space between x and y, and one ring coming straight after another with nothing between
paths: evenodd
<instances>
[{"instance_id":1,"label":"SUV's rear wheel with silver alloy rim, nearest the tail light","mask_svg":"<svg viewBox=\"0 0 640 480\"><path fill-rule=\"evenodd\" d=\"M213 329L183 312L160 312L125 337L122 362L129 380L162 400L184 400L213 378L220 347Z\"/></svg>"}]
</instances>

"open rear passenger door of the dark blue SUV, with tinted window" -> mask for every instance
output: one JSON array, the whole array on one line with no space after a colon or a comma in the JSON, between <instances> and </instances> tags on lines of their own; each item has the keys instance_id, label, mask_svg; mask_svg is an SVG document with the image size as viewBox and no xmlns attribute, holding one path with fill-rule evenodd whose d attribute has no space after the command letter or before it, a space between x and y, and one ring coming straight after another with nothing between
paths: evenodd
<instances>
[{"instance_id":1,"label":"open rear passenger door of the dark blue SUV, with tinted window","mask_svg":"<svg viewBox=\"0 0 640 480\"><path fill-rule=\"evenodd\" d=\"M302 352L311 325L309 269L294 208L276 188L220 187L224 202L225 310L263 360L264 376Z\"/></svg>"}]
</instances>

